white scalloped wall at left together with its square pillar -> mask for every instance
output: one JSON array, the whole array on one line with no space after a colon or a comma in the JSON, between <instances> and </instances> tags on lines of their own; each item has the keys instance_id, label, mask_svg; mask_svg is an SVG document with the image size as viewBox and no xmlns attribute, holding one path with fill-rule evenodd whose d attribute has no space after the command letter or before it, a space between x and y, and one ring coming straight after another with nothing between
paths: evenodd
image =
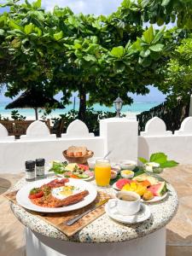
<instances>
[{"instance_id":1,"label":"white scalloped wall at left together with its square pillar","mask_svg":"<svg viewBox=\"0 0 192 256\"><path fill-rule=\"evenodd\" d=\"M137 121L105 119L102 125L101 136L95 137L83 122L75 120L68 126L66 134L56 138L49 134L44 123L35 121L29 125L25 136L12 142L8 141L7 133L2 129L0 172L22 172L26 160L45 158L47 164L52 160L64 160L62 151L72 145L86 146L94 156L101 157L108 148L113 148L111 159L137 160Z\"/></svg>"}]
</instances>

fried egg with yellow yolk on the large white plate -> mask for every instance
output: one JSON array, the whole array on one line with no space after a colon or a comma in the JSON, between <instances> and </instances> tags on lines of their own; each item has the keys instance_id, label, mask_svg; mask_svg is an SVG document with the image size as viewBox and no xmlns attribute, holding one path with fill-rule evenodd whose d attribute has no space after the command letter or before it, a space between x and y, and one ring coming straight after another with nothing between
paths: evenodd
<instances>
[{"instance_id":1,"label":"fried egg with yellow yolk on the large white plate","mask_svg":"<svg viewBox=\"0 0 192 256\"><path fill-rule=\"evenodd\" d=\"M65 199L69 195L78 194L79 192L81 192L81 189L69 185L51 189L51 195L60 200Z\"/></svg>"}]
</instances>

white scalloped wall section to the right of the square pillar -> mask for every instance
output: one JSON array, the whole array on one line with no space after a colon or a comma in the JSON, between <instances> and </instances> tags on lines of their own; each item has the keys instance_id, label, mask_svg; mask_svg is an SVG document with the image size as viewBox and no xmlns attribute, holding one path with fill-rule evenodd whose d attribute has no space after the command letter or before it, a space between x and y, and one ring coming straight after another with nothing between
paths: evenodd
<instances>
[{"instance_id":1,"label":"white scalloped wall section to the right of the square pillar","mask_svg":"<svg viewBox=\"0 0 192 256\"><path fill-rule=\"evenodd\" d=\"M162 119L154 117L148 120L145 131L138 137L138 156L148 159L156 152L163 152L180 164L192 164L192 117L184 119L174 134L166 131Z\"/></svg>"}]
</instances>

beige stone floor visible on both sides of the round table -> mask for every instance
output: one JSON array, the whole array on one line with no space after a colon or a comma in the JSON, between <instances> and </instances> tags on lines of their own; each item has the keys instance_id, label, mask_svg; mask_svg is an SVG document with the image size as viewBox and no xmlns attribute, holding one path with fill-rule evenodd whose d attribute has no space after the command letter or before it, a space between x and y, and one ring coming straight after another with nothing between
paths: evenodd
<instances>
[{"instance_id":1,"label":"beige stone floor visible on both sides of the round table","mask_svg":"<svg viewBox=\"0 0 192 256\"><path fill-rule=\"evenodd\" d=\"M24 256L23 226L3 198L22 174L0 174L0 256ZM172 183L179 197L177 215L167 225L166 256L192 256L192 166L166 169L162 177Z\"/></svg>"}]
</instances>

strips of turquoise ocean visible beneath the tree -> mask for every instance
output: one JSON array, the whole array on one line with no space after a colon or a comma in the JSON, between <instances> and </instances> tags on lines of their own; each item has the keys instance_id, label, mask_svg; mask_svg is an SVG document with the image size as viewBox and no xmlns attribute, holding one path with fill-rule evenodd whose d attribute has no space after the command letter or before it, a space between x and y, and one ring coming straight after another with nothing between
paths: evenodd
<instances>
[{"instance_id":1,"label":"strips of turquoise ocean visible beneath the tree","mask_svg":"<svg viewBox=\"0 0 192 256\"><path fill-rule=\"evenodd\" d=\"M2 117L10 117L11 111L18 110L19 113L23 116L26 116L26 119L34 119L35 112L32 108L16 108L16 109L5 109L5 106L9 102L0 102L0 114ZM154 108L159 105L161 102L134 102L131 105L123 106L121 112L122 113L130 113L131 115L135 115L136 113L142 113L143 111L147 111L150 108ZM115 112L114 107L108 108L106 106L101 106L100 104L94 104L93 108L99 111L110 111ZM69 110L73 109L73 103L66 106L64 109L55 109L49 114L49 118L58 117L61 113L66 113ZM76 103L75 110L79 109L79 102ZM39 109L38 116L39 118L43 115L44 109Z\"/></svg>"}]
</instances>

